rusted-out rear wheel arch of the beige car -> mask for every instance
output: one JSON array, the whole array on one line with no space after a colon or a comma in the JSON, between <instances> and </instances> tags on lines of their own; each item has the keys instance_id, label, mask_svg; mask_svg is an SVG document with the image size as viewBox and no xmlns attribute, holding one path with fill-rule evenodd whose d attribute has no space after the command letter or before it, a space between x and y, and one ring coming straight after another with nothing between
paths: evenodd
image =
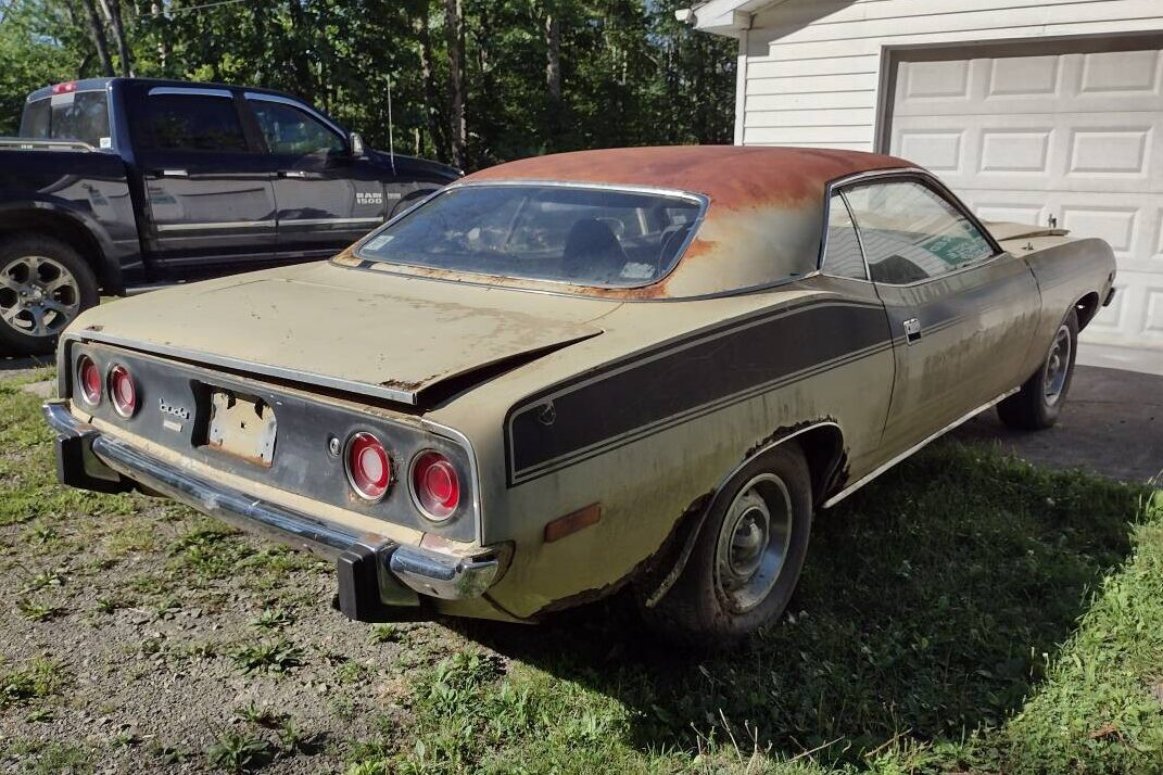
<instances>
[{"instance_id":1,"label":"rusted-out rear wheel arch of the beige car","mask_svg":"<svg viewBox=\"0 0 1163 775\"><path fill-rule=\"evenodd\" d=\"M694 550L694 543L702 531L702 524L706 522L711 508L722 496L725 488L735 478L735 474L756 457L792 440L795 440L807 460L808 472L812 476L813 510L815 510L816 504L826 500L828 493L836 491L843 487L848 471L846 465L844 436L840 423L828 417L815 422L804 422L789 428L780 428L748 450L739 465L732 468L711 493L707 493L691 504L692 508L683 515L684 518L680 521L679 530L685 529L683 530L685 536L682 537L682 544L677 547L678 551L673 564L668 562L666 565L670 567L665 574L661 577L656 575L655 582L650 583L643 590L642 604L647 608L654 608L670 591L675 582L678 581L678 577L686 568L686 562Z\"/></svg>"}]
</instances>

